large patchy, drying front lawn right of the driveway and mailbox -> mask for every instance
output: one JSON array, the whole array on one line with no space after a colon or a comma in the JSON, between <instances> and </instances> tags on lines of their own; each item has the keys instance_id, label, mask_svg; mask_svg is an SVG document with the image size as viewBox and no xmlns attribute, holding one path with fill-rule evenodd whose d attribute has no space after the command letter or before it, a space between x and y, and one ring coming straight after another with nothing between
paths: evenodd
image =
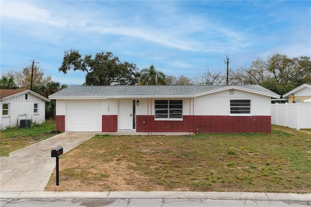
<instances>
[{"instance_id":1,"label":"large patchy, drying front lawn right of the driveway and mailbox","mask_svg":"<svg viewBox=\"0 0 311 207\"><path fill-rule=\"evenodd\" d=\"M96 136L60 158L46 190L311 192L311 135Z\"/></svg>"}]
</instances>

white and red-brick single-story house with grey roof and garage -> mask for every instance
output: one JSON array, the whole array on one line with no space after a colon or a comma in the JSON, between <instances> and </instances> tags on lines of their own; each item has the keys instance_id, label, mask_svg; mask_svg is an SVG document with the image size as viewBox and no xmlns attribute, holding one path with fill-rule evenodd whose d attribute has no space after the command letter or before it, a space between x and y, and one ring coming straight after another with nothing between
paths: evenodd
<instances>
[{"instance_id":1,"label":"white and red-brick single-story house with grey roof and garage","mask_svg":"<svg viewBox=\"0 0 311 207\"><path fill-rule=\"evenodd\" d=\"M271 132L271 97L259 85L68 86L56 100L66 132Z\"/></svg>"}]
</instances>

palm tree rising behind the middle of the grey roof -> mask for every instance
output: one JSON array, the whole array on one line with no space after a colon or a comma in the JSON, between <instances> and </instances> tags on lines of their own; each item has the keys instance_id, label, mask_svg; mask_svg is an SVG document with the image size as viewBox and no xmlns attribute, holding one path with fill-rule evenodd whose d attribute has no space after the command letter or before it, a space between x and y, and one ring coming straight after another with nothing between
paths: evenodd
<instances>
[{"instance_id":1,"label":"palm tree rising behind the middle of the grey roof","mask_svg":"<svg viewBox=\"0 0 311 207\"><path fill-rule=\"evenodd\" d=\"M140 85L166 85L164 73L156 70L154 65L140 71L139 82Z\"/></svg>"}]
</instances>

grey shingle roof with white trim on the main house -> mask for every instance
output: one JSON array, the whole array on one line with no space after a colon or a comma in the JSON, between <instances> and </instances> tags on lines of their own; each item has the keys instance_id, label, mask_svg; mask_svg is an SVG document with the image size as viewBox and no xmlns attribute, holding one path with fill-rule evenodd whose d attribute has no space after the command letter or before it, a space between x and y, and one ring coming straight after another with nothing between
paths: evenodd
<instances>
[{"instance_id":1,"label":"grey shingle roof with white trim on the main house","mask_svg":"<svg viewBox=\"0 0 311 207\"><path fill-rule=\"evenodd\" d=\"M259 95L279 98L280 95L259 85L243 86L68 86L49 99L105 98L195 98L228 89L238 89Z\"/></svg>"}]
</instances>

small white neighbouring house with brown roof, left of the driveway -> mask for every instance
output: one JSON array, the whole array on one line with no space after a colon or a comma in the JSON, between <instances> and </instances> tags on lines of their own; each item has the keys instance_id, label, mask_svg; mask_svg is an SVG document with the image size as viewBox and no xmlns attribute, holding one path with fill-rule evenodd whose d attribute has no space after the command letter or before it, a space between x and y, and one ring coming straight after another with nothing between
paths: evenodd
<instances>
[{"instance_id":1,"label":"small white neighbouring house with brown roof, left of the driveway","mask_svg":"<svg viewBox=\"0 0 311 207\"><path fill-rule=\"evenodd\" d=\"M1 89L0 102L0 128L6 129L21 126L23 120L44 122L45 103L51 100L27 89Z\"/></svg>"}]
</instances>

